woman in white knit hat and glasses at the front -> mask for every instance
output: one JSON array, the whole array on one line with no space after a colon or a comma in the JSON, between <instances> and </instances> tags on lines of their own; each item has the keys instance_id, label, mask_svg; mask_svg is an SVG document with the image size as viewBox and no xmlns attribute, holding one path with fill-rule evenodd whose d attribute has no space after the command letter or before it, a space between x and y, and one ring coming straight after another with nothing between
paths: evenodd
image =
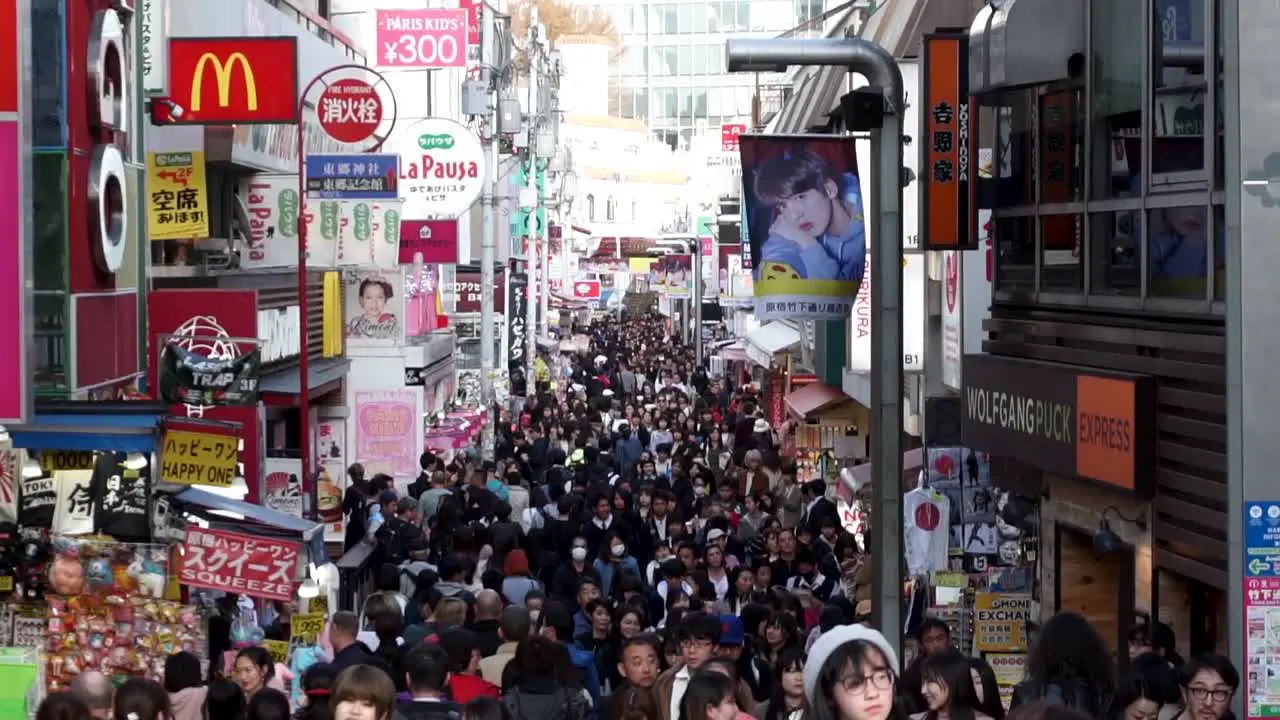
<instances>
[{"instance_id":1,"label":"woman in white knit hat and glasses at the front","mask_svg":"<svg viewBox=\"0 0 1280 720\"><path fill-rule=\"evenodd\" d=\"M809 651L806 720L905 720L897 696L897 652L879 632L841 625Z\"/></svg>"}]
</instances>

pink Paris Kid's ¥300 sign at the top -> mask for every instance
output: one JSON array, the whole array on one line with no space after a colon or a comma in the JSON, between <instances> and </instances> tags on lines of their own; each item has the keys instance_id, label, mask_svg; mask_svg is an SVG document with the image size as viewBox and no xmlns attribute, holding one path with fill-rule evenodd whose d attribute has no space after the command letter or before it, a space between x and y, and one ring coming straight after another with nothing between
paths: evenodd
<instances>
[{"instance_id":1,"label":"pink Paris Kid's \u00a5300 sign at the top","mask_svg":"<svg viewBox=\"0 0 1280 720\"><path fill-rule=\"evenodd\" d=\"M378 10L379 68L463 68L467 10Z\"/></svg>"}]
</instances>

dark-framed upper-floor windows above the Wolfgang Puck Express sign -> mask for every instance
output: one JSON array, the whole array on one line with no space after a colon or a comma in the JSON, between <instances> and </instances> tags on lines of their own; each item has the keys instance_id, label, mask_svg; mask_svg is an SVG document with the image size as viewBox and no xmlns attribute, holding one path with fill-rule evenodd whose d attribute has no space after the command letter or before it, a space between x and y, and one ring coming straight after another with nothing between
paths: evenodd
<instances>
[{"instance_id":1,"label":"dark-framed upper-floor windows above the Wolfgang Puck Express sign","mask_svg":"<svg viewBox=\"0 0 1280 720\"><path fill-rule=\"evenodd\" d=\"M997 302L1222 313L1221 6L1091 0L1092 61L975 94Z\"/></svg>"}]
</instances>

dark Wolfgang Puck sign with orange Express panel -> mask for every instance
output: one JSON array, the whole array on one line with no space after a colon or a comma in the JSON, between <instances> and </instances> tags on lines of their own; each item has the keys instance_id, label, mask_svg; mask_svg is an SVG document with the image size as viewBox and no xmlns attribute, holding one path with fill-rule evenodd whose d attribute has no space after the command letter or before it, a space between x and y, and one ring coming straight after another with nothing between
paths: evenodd
<instances>
[{"instance_id":1,"label":"dark Wolfgang Puck sign with orange Express panel","mask_svg":"<svg viewBox=\"0 0 1280 720\"><path fill-rule=\"evenodd\" d=\"M964 445L1060 475L1147 496L1156 448L1156 386L1129 375L965 355Z\"/></svg>"}]
</instances>

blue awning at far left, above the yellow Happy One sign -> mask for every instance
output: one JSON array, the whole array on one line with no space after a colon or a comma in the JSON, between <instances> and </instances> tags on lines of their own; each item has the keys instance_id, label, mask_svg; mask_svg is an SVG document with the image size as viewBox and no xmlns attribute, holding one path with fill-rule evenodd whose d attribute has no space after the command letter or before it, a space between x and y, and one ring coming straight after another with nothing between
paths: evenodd
<instances>
[{"instance_id":1,"label":"blue awning at far left, above the yellow Happy One sign","mask_svg":"<svg viewBox=\"0 0 1280 720\"><path fill-rule=\"evenodd\" d=\"M125 407L115 411L104 409L99 415L37 413L31 423L6 428L13 446L23 450L150 454L156 448L164 410L155 404L146 406L145 413Z\"/></svg>"}]
</instances>

